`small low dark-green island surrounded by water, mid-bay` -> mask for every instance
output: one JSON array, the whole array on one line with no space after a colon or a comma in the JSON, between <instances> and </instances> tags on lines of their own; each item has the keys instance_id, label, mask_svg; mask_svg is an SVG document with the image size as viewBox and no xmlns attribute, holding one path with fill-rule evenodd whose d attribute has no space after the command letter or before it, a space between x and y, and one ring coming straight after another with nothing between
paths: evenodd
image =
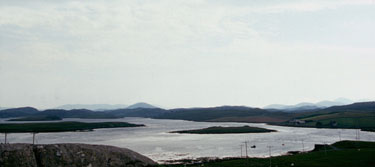
<instances>
[{"instance_id":1,"label":"small low dark-green island surrounded by water, mid-bay","mask_svg":"<svg viewBox=\"0 0 375 167\"><path fill-rule=\"evenodd\" d=\"M267 133L267 132L276 132L276 130L250 127L250 126L241 126L241 127L221 127L214 126L203 129L195 130L182 130L182 131L173 131L170 133L190 133L190 134L232 134L232 133Z\"/></svg>"}]
</instances>

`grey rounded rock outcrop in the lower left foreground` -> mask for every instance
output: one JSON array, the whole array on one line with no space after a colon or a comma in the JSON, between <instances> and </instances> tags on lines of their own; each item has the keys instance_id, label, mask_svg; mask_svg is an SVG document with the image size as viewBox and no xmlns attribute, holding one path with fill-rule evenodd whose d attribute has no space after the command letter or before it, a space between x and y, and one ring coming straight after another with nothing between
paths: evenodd
<instances>
[{"instance_id":1,"label":"grey rounded rock outcrop in the lower left foreground","mask_svg":"<svg viewBox=\"0 0 375 167\"><path fill-rule=\"evenodd\" d=\"M1 144L1 167L156 166L151 159L126 148L89 144Z\"/></svg>"}]
</instances>

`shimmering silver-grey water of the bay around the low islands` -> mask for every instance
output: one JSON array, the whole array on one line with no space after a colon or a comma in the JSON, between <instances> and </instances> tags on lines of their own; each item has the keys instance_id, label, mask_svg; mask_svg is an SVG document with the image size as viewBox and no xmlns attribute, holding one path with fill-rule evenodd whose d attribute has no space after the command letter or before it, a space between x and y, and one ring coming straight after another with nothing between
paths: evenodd
<instances>
[{"instance_id":1,"label":"shimmering silver-grey water of the bay around the low islands","mask_svg":"<svg viewBox=\"0 0 375 167\"><path fill-rule=\"evenodd\" d=\"M341 140L356 140L354 129L315 129L271 126L254 123L217 123L165 120L149 118L122 119L64 119L64 121L108 122L124 121L145 124L145 127L96 129L91 132L40 133L36 136L39 144L87 143L125 147L139 152L156 161L197 157L240 156L241 144L249 142L248 154L253 157L279 155L287 151L307 151L314 144L334 143ZM1 123L7 122L4 119ZM255 126L277 130L272 133L257 134L176 134L176 130L198 129L210 126ZM360 140L374 141L375 133L360 132ZM4 134L0 135L4 142ZM10 143L31 143L30 133L8 134ZM250 146L256 145L256 148ZM243 147L243 154L245 148Z\"/></svg>"}]
</instances>

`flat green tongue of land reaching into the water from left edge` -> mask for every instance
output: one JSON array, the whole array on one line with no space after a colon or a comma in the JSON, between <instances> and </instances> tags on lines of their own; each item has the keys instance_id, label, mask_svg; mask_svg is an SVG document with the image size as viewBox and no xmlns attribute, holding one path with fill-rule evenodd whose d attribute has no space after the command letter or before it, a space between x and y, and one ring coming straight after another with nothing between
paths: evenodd
<instances>
[{"instance_id":1,"label":"flat green tongue of land reaching into the water from left edge","mask_svg":"<svg viewBox=\"0 0 375 167\"><path fill-rule=\"evenodd\" d=\"M14 123L0 124L0 133L24 133L24 132L66 132L86 131L98 128L138 127L144 125L130 124L126 122L54 122L54 123Z\"/></svg>"}]
</instances>

